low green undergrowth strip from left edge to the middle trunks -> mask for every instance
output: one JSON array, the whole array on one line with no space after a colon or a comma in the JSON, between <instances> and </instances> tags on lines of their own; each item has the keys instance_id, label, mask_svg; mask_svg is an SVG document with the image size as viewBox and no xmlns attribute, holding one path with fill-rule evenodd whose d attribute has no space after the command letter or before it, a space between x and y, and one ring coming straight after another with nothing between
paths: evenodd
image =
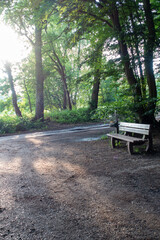
<instances>
[{"instance_id":1,"label":"low green undergrowth strip from left edge to the middle trunks","mask_svg":"<svg viewBox=\"0 0 160 240\"><path fill-rule=\"evenodd\" d=\"M89 114L88 109L78 109L78 110L64 110L64 111L54 111L45 113L44 121L41 120L33 120L33 116L23 116L23 118L19 118L15 115L0 115L0 134L7 133L18 133L22 131L29 130L38 130L38 129L46 129L48 119L51 122L57 123L85 123L91 120L91 115Z\"/></svg>"}]
</instances>

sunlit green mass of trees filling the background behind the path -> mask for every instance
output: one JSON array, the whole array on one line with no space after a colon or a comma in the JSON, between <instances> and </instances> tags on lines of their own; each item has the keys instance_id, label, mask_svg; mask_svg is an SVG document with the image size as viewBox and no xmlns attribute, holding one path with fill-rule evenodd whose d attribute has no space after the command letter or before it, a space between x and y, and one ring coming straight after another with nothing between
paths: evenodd
<instances>
[{"instance_id":1,"label":"sunlit green mass of trees filling the background behind the path","mask_svg":"<svg viewBox=\"0 0 160 240\"><path fill-rule=\"evenodd\" d=\"M10 0L1 17L32 46L13 79L22 115L87 107L156 123L158 0Z\"/></svg>"}]
</instances>

